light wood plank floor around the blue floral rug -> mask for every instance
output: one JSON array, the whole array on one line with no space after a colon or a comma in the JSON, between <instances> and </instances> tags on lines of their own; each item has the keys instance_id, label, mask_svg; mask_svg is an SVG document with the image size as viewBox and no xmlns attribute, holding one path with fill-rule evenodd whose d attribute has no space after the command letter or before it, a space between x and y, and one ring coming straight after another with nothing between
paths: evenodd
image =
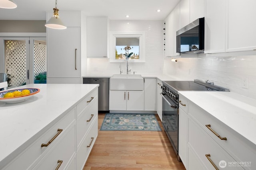
<instances>
[{"instance_id":1,"label":"light wood plank floor around the blue floral rug","mask_svg":"<svg viewBox=\"0 0 256 170\"><path fill-rule=\"evenodd\" d=\"M98 129L105 113L98 114ZM162 131L98 131L84 170L185 170Z\"/></svg>"}]
</instances>

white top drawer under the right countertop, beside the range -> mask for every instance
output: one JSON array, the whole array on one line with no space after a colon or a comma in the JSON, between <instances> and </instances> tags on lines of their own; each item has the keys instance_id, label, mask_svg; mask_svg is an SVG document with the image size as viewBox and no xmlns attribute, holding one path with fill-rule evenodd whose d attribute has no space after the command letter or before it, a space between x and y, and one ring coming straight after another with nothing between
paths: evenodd
<instances>
[{"instance_id":1,"label":"white top drawer under the right countertop, beside the range","mask_svg":"<svg viewBox=\"0 0 256 170\"><path fill-rule=\"evenodd\" d=\"M255 144L251 143L246 138L242 137L242 135L238 134L236 131L192 102L189 103L188 114L237 162L256 162ZM227 140L221 140L218 138L206 127L206 125L210 125L212 130L220 135L220 137L226 137ZM244 168L253 170L256 169L256 164L250 164L250 166L245 166Z\"/></svg>"}]
</instances>

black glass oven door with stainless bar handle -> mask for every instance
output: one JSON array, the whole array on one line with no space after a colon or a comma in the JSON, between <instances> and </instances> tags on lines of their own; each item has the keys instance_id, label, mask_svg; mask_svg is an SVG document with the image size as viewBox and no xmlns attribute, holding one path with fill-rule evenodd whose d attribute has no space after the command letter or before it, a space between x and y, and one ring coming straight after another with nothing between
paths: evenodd
<instances>
[{"instance_id":1,"label":"black glass oven door with stainless bar handle","mask_svg":"<svg viewBox=\"0 0 256 170\"><path fill-rule=\"evenodd\" d=\"M178 155L178 105L166 94L162 96L162 124L174 151Z\"/></svg>"}]
</instances>

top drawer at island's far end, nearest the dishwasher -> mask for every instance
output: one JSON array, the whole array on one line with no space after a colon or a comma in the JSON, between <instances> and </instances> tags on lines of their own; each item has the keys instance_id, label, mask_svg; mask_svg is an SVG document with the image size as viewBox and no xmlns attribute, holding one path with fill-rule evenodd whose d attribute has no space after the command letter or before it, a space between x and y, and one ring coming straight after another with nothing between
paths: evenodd
<instances>
[{"instance_id":1,"label":"top drawer at island's far end, nearest the dishwasher","mask_svg":"<svg viewBox=\"0 0 256 170\"><path fill-rule=\"evenodd\" d=\"M94 90L93 92L91 92L90 94L88 94L88 96L82 100L82 102L80 102L77 106L76 106L76 109L77 109L77 117L82 113L82 111L87 107L89 106L92 101L96 100L97 99L97 96L98 96L98 90ZM98 106L97 106L97 109L98 109Z\"/></svg>"}]
</instances>

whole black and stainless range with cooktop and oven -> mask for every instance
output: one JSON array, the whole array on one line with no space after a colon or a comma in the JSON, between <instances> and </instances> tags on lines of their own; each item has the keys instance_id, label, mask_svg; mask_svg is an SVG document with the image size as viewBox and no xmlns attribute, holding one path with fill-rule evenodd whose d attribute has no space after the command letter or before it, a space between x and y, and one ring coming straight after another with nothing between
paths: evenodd
<instances>
[{"instance_id":1,"label":"whole black and stainless range with cooktop and oven","mask_svg":"<svg viewBox=\"0 0 256 170\"><path fill-rule=\"evenodd\" d=\"M194 81L163 81L162 82L162 124L164 131L172 144L174 151L177 154L178 161L180 160L178 152L178 134L179 134L179 95L178 91L193 90L193 91L229 91L226 88L215 86L207 80Z\"/></svg>"}]
</instances>

